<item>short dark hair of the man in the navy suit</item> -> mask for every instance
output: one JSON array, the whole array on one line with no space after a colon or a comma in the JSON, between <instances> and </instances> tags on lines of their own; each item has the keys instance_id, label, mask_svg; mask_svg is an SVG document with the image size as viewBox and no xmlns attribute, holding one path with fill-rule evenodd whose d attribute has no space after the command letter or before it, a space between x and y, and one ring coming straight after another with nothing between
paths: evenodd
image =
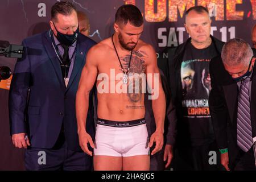
<instances>
[{"instance_id":1,"label":"short dark hair of the man in the navy suit","mask_svg":"<svg viewBox=\"0 0 256 182\"><path fill-rule=\"evenodd\" d=\"M74 6L71 2L68 1L60 1L56 2L51 9L51 18L52 20L57 20L57 14L70 15L72 11L76 11L76 6Z\"/></svg>"}]
</instances>

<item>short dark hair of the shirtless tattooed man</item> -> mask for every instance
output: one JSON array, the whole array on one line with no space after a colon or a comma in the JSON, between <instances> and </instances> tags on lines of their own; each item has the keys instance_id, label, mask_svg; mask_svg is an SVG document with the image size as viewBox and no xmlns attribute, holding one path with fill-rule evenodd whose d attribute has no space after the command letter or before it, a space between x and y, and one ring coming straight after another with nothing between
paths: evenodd
<instances>
[{"instance_id":1,"label":"short dark hair of the shirtless tattooed man","mask_svg":"<svg viewBox=\"0 0 256 182\"><path fill-rule=\"evenodd\" d=\"M127 24L130 22L135 27L143 24L143 16L138 7L134 5L123 5L115 13L115 23Z\"/></svg>"}]
</instances>

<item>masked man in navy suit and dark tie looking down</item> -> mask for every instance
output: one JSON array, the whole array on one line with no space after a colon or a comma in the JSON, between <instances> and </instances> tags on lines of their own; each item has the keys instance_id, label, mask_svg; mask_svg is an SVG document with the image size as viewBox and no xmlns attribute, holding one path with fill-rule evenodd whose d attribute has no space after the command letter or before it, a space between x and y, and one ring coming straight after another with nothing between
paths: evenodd
<instances>
[{"instance_id":1,"label":"masked man in navy suit and dark tie looking down","mask_svg":"<svg viewBox=\"0 0 256 182\"><path fill-rule=\"evenodd\" d=\"M23 40L10 88L13 144L27 148L28 170L90 170L77 135L75 97L86 53L96 44L79 33L77 11L69 2L51 9L51 30ZM92 94L86 131L94 136Z\"/></svg>"}]
</instances>

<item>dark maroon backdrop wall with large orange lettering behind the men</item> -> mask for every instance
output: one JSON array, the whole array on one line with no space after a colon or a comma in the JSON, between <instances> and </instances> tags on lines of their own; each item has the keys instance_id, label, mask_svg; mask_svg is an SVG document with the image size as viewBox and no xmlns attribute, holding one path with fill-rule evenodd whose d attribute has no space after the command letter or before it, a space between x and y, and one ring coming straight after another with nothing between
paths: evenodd
<instances>
[{"instance_id":1,"label":"dark maroon backdrop wall with large orange lettering behind the men","mask_svg":"<svg viewBox=\"0 0 256 182\"><path fill-rule=\"evenodd\" d=\"M0 40L21 44L27 36L48 30L54 0L1 0ZM216 5L212 18L213 35L223 41L238 37L251 44L250 32L256 23L256 0L73 0L90 19L90 36L96 42L113 33L114 14L124 3L134 3L145 23L141 38L152 44L159 57L166 46L177 46L188 38L183 28L185 7ZM164 55L166 56L166 55ZM160 59L159 59L160 61ZM16 60L0 57L0 66L14 68ZM161 63L159 63L161 65ZM10 80L0 82L0 170L22 170L23 150L13 147L9 135L8 94Z\"/></svg>"}]
</instances>

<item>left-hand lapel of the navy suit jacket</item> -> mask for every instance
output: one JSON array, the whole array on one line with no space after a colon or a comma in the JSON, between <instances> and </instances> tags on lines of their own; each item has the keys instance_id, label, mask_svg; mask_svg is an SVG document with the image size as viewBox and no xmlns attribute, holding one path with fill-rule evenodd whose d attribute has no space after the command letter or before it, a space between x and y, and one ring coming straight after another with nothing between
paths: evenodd
<instances>
[{"instance_id":1,"label":"left-hand lapel of the navy suit jacket","mask_svg":"<svg viewBox=\"0 0 256 182\"><path fill-rule=\"evenodd\" d=\"M55 69L55 73L57 75L57 78L60 81L60 85L63 86L63 88L65 89L65 82L61 73L61 68L60 68L60 62L59 59L57 58L57 55L53 49L52 46L52 40L51 37L49 35L50 31L47 31L44 38L43 38L43 44L44 47L46 48L46 52L49 56L49 59L51 60L52 66Z\"/></svg>"}]
</instances>

